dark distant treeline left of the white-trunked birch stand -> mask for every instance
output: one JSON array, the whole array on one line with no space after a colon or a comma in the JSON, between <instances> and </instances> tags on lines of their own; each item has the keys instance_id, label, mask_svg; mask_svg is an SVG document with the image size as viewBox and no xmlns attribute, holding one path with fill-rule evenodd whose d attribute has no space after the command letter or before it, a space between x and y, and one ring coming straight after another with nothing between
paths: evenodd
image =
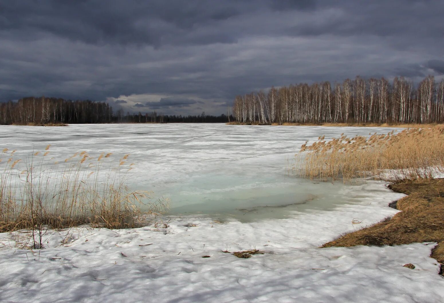
<instances>
[{"instance_id":1,"label":"dark distant treeline left of the white-trunked birch stand","mask_svg":"<svg viewBox=\"0 0 444 303\"><path fill-rule=\"evenodd\" d=\"M91 100L71 101L61 98L27 97L18 102L0 103L0 124L49 124L49 123L214 123L234 120L230 115L163 115L155 111L142 114L126 114L123 110L113 112L106 102Z\"/></svg>"}]
</instances>

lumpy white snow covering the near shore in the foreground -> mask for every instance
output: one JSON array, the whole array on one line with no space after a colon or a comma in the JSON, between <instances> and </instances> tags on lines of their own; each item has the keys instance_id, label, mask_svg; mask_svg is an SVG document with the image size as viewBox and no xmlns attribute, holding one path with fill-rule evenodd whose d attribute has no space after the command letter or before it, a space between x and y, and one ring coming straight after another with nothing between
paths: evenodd
<instances>
[{"instance_id":1,"label":"lumpy white snow covering the near shore in the foreground","mask_svg":"<svg viewBox=\"0 0 444 303\"><path fill-rule=\"evenodd\" d=\"M193 302L217 302L221 297L231 302L236 300L233 293L247 290L253 294L250 301L270 302L280 289L291 301L330 302L334 292L337 302L356 302L356 291L361 291L368 298L365 302L387 298L440 302L444 282L429 258L430 246L318 248L325 240L356 227L350 225L354 216L370 223L393 215L396 211L386 205L404 196L380 182L362 188L369 195L360 197L362 202L357 205L306 212L296 220L219 224L186 216L143 228L71 228L45 233L46 249L38 252L13 248L22 241L16 233L4 241L11 249L0 250L4 268L0 283L4 283L5 295L16 302L25 301L40 285L46 296L37 302L48 296L67 302L119 301L123 296L136 302L150 296L152 301L166 302L170 299L165 299L166 286L189 298L189 281L193 294L204 298ZM361 196L361 190L345 194L350 193ZM256 254L238 258L234 252ZM416 270L402 266L410 262ZM28 280L40 284L16 287L15 281ZM387 287L393 280L398 281L397 287ZM87 291L60 292L60 285ZM261 293L264 288L267 297ZM212 301L209 292L216 299Z\"/></svg>"}]
</instances>

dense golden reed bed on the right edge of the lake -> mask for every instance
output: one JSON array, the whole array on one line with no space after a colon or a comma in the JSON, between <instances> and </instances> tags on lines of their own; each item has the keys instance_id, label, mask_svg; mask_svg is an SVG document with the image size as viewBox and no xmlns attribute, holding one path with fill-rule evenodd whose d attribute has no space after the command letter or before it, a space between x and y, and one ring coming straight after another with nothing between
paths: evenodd
<instances>
[{"instance_id":1,"label":"dense golden reed bed on the right edge of the lake","mask_svg":"<svg viewBox=\"0 0 444 303\"><path fill-rule=\"evenodd\" d=\"M430 178L444 172L444 126L412 128L395 134L373 134L305 142L293 169L303 177L350 181L375 177L385 180Z\"/></svg>"}]
</instances>

